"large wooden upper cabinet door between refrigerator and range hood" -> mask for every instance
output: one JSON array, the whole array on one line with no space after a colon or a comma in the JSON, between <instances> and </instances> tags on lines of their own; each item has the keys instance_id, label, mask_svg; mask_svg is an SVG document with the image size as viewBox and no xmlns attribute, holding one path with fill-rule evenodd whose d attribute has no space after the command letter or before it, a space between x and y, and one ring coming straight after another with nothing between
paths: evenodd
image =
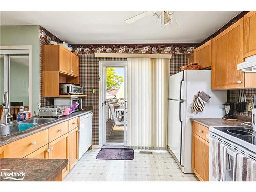
<instances>
[{"instance_id":1,"label":"large wooden upper cabinet door between refrigerator and range hood","mask_svg":"<svg viewBox=\"0 0 256 192\"><path fill-rule=\"evenodd\" d=\"M211 40L211 89L244 87L244 73L237 70L237 65L244 62L243 24L244 20L241 18Z\"/></svg>"}]
</instances>

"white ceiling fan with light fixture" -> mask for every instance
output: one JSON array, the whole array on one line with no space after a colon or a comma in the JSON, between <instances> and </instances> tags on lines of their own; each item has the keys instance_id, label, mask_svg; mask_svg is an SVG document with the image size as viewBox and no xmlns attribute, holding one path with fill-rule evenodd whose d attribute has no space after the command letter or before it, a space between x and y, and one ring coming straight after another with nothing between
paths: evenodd
<instances>
[{"instance_id":1,"label":"white ceiling fan with light fixture","mask_svg":"<svg viewBox=\"0 0 256 192\"><path fill-rule=\"evenodd\" d=\"M152 19L157 22L160 20L161 27L165 28L168 24L174 20L174 23L178 26L178 23L176 21L174 11L145 11L143 13L140 13L138 15L135 15L129 19L124 20L127 24L132 24L134 22L137 22L138 20L147 17L152 16Z\"/></svg>"}]
</instances>

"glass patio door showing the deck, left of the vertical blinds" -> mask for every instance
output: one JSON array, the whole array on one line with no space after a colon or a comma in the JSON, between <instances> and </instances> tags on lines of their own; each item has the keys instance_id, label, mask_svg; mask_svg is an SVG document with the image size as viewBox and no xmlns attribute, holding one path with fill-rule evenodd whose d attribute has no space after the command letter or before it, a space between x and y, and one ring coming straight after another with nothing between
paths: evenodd
<instances>
[{"instance_id":1,"label":"glass patio door showing the deck, left of the vertical blinds","mask_svg":"<svg viewBox=\"0 0 256 192\"><path fill-rule=\"evenodd\" d=\"M126 61L100 61L103 145L127 146Z\"/></svg>"}]
</instances>

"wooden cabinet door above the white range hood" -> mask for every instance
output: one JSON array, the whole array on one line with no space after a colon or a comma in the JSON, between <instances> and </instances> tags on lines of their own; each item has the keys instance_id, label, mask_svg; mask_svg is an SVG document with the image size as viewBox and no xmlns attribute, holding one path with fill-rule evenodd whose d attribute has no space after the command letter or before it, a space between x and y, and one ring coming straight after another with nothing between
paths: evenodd
<instances>
[{"instance_id":1,"label":"wooden cabinet door above the white range hood","mask_svg":"<svg viewBox=\"0 0 256 192\"><path fill-rule=\"evenodd\" d=\"M244 58L256 55L256 11L244 16Z\"/></svg>"}]
</instances>

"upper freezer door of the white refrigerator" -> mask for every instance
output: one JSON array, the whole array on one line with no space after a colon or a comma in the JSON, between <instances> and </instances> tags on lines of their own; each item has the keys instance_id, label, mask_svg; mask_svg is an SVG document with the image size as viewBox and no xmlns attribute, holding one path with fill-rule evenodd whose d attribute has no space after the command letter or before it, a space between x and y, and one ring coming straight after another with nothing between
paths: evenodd
<instances>
[{"instance_id":1,"label":"upper freezer door of the white refrigerator","mask_svg":"<svg viewBox=\"0 0 256 192\"><path fill-rule=\"evenodd\" d=\"M185 100L183 72L169 77L169 99Z\"/></svg>"}]
</instances>

